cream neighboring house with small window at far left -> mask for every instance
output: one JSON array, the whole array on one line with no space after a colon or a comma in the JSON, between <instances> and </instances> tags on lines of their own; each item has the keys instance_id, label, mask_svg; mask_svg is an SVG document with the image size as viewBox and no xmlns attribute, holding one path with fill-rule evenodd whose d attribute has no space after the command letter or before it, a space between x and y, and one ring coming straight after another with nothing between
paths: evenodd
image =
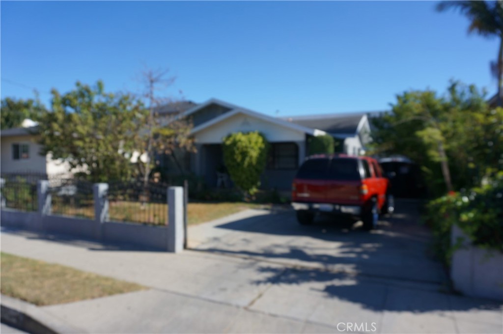
<instances>
[{"instance_id":1,"label":"cream neighboring house with small window at far left","mask_svg":"<svg viewBox=\"0 0 503 334\"><path fill-rule=\"evenodd\" d=\"M68 173L68 164L40 155L41 146L33 133L36 126L0 131L0 172L39 174L48 177Z\"/></svg>"}]
</instances>

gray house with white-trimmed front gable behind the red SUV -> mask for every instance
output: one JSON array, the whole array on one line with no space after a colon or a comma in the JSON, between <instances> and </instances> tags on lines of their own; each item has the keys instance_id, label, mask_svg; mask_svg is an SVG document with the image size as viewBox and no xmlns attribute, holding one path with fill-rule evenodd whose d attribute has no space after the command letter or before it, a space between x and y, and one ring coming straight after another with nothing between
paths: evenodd
<instances>
[{"instance_id":1,"label":"gray house with white-trimmed front gable behind the red SUV","mask_svg":"<svg viewBox=\"0 0 503 334\"><path fill-rule=\"evenodd\" d=\"M234 132L262 132L270 143L265 189L290 190L292 180L308 152L309 137L330 134L342 142L341 151L350 155L365 152L370 141L370 125L364 113L317 115L291 118L271 117L217 99L187 109L192 117L197 153L186 161L188 169L216 186L223 166L222 138Z\"/></svg>"}]
</instances>

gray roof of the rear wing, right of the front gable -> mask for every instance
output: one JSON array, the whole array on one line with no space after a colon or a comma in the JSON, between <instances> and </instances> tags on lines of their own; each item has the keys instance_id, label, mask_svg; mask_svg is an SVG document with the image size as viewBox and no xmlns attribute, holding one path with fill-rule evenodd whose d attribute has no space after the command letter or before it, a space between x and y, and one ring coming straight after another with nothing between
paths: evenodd
<instances>
[{"instance_id":1,"label":"gray roof of the rear wing, right of the front gable","mask_svg":"<svg viewBox=\"0 0 503 334\"><path fill-rule=\"evenodd\" d=\"M312 116L287 117L284 120L304 126L319 129L332 135L354 135L361 127L368 113L326 114Z\"/></svg>"}]
</instances>

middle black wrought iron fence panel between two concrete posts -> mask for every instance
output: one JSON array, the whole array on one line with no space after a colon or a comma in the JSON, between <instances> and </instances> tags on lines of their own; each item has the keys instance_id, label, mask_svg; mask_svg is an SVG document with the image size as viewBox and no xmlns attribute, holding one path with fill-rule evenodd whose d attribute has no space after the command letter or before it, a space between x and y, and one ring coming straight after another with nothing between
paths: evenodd
<instances>
[{"instance_id":1,"label":"middle black wrought iron fence panel between two concrete posts","mask_svg":"<svg viewBox=\"0 0 503 334\"><path fill-rule=\"evenodd\" d=\"M52 214L94 219L93 184L79 179L49 180Z\"/></svg>"}]
</instances>

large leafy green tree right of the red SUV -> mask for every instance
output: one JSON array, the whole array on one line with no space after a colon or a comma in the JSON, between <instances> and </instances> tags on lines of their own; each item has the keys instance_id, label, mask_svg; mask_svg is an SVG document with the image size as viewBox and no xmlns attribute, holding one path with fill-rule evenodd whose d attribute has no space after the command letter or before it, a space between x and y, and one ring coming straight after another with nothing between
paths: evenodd
<instances>
[{"instance_id":1,"label":"large leafy green tree right of the red SUV","mask_svg":"<svg viewBox=\"0 0 503 334\"><path fill-rule=\"evenodd\" d=\"M410 157L434 195L479 185L503 168L503 108L489 108L474 86L453 82L443 97L405 92L372 122L372 152Z\"/></svg>"}]
</instances>

